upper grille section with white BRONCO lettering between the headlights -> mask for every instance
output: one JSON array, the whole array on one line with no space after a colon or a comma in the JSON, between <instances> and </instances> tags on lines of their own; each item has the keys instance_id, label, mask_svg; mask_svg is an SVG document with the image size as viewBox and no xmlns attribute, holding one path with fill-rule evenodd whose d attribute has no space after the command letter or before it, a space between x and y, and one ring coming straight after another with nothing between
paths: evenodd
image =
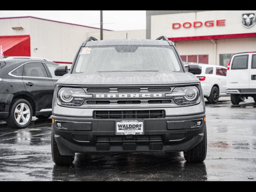
<instances>
[{"instance_id":1,"label":"upper grille section with white BRONCO lettering between the headlights","mask_svg":"<svg viewBox=\"0 0 256 192\"><path fill-rule=\"evenodd\" d=\"M174 87L174 85L86 87L84 90L86 93L91 94L92 97L86 98L82 107L109 107L120 108L120 110L122 110L124 105L126 105L127 108L145 108L149 105L150 108L174 106L175 103L173 102L172 98L165 96L166 93L170 93Z\"/></svg>"}]
</instances>

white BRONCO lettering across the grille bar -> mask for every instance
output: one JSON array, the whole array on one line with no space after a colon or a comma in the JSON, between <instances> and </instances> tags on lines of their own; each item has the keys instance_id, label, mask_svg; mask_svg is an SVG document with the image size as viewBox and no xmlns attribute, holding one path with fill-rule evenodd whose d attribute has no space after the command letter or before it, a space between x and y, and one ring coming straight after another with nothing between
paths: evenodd
<instances>
[{"instance_id":1,"label":"white BRONCO lettering across the grille bar","mask_svg":"<svg viewBox=\"0 0 256 192\"><path fill-rule=\"evenodd\" d=\"M93 94L95 98L156 98L162 97L162 93L125 93L125 94Z\"/></svg>"}]
</instances>

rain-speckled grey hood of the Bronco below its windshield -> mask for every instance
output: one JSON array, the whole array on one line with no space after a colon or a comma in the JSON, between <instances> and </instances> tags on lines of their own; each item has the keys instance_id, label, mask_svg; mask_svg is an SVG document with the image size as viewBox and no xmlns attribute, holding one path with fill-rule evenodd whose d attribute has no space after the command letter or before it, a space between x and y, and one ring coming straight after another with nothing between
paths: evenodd
<instances>
[{"instance_id":1,"label":"rain-speckled grey hood of the Bronco below its windshield","mask_svg":"<svg viewBox=\"0 0 256 192\"><path fill-rule=\"evenodd\" d=\"M156 85L198 83L189 72L97 72L65 74L57 84L69 85Z\"/></svg>"}]
</instances>

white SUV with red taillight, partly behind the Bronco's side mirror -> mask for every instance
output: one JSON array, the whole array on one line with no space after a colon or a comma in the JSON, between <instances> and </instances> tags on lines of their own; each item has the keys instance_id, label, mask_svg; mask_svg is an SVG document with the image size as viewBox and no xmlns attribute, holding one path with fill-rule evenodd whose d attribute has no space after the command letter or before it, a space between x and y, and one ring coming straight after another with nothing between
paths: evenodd
<instances>
[{"instance_id":1,"label":"white SUV with red taillight, partly behind the Bronco's side mirror","mask_svg":"<svg viewBox=\"0 0 256 192\"><path fill-rule=\"evenodd\" d=\"M185 66L188 66L186 64ZM217 103L221 96L226 94L227 68L219 65L199 64L202 73L196 75L201 81L204 97L209 103Z\"/></svg>"}]
</instances>

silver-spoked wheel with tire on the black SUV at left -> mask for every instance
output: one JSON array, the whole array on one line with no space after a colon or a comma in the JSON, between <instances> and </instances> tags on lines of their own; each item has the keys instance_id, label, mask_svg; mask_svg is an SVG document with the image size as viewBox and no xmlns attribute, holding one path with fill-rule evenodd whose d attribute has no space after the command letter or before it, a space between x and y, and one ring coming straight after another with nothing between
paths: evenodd
<instances>
[{"instance_id":1,"label":"silver-spoked wheel with tire on the black SUV at left","mask_svg":"<svg viewBox=\"0 0 256 192\"><path fill-rule=\"evenodd\" d=\"M15 99L10 106L7 125L12 128L25 128L32 119L33 110L30 103L25 99Z\"/></svg>"}]
</instances>

